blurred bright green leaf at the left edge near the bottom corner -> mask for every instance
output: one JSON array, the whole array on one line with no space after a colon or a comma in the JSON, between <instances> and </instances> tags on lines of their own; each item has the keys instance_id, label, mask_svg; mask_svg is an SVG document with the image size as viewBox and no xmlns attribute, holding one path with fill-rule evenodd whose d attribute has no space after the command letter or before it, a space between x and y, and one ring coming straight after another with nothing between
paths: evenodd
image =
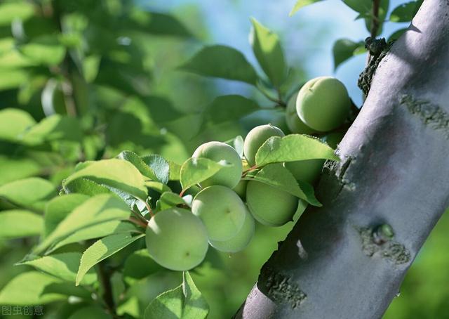
<instances>
[{"instance_id":1,"label":"blurred bright green leaf at the left edge near the bottom corner","mask_svg":"<svg viewBox=\"0 0 449 319\"><path fill-rule=\"evenodd\" d=\"M1 290L0 304L30 306L67 299L64 294L47 292L48 287L58 285L61 281L37 271L20 273Z\"/></svg>"}]
</instances>

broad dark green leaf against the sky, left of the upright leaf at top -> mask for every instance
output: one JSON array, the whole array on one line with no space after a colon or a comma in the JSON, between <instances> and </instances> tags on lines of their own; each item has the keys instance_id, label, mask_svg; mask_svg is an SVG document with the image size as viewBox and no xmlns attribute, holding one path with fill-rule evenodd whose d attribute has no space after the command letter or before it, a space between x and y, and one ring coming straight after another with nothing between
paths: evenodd
<instances>
[{"instance_id":1,"label":"broad dark green leaf against the sky, left of the upright leaf at top","mask_svg":"<svg viewBox=\"0 0 449 319\"><path fill-rule=\"evenodd\" d=\"M253 85L257 82L253 66L240 51L229 46L206 46L180 68L204 77L221 77Z\"/></svg>"}]
</instances>

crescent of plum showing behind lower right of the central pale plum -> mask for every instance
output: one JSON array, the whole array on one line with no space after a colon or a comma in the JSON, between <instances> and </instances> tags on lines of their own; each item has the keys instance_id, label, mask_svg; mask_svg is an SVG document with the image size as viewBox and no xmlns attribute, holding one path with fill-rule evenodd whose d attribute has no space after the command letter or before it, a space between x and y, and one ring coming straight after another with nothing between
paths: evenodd
<instances>
[{"instance_id":1,"label":"crescent of plum showing behind lower right of the central pale plum","mask_svg":"<svg viewBox=\"0 0 449 319\"><path fill-rule=\"evenodd\" d=\"M246 211L245 221L239 232L230 240L210 240L210 245L221 252L240 252L253 239L255 221L250 212Z\"/></svg>"}]
</instances>

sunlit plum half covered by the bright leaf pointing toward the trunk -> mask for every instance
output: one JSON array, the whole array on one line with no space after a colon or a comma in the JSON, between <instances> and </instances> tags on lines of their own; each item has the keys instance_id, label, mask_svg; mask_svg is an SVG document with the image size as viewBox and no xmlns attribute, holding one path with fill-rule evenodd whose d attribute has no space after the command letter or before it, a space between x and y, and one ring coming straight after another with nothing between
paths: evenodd
<instances>
[{"instance_id":1,"label":"sunlit plum half covered by the bright leaf pointing toward the trunk","mask_svg":"<svg viewBox=\"0 0 449 319\"><path fill-rule=\"evenodd\" d=\"M272 136L283 137L285 134L283 134L281 129L271 124L255 126L254 129L249 131L245 138L245 142L243 143L243 154L250 166L255 165L255 155L257 150L259 150L260 146Z\"/></svg>"}]
</instances>

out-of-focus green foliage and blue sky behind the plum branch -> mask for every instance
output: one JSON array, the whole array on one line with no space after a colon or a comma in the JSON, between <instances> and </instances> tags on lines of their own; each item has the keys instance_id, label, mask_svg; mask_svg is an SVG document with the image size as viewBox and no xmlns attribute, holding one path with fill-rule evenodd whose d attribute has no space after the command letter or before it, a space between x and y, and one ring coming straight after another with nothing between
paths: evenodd
<instances>
[{"instance_id":1,"label":"out-of-focus green foliage and blue sky behind the plum branch","mask_svg":"<svg viewBox=\"0 0 449 319\"><path fill-rule=\"evenodd\" d=\"M60 122L34 131L34 138L45 143L26 145L5 134L18 129L14 122L0 122L0 185L27 176L44 176L60 185L76 162L114 157L125 149L157 152L181 163L205 141L244 136L253 126L268 122L285 127L283 112L248 84L205 79L178 68L204 44L215 43L239 49L255 65L248 44L250 16L281 37L289 65L296 71L296 86L310 77L334 74L360 105L356 80L365 56L334 72L331 48L340 37L364 39L368 34L363 22L354 21L354 11L341 1L323 1L288 18L293 2L1 1L0 112L25 110L30 123L60 115ZM390 1L390 7L400 3ZM398 27L401 24L386 23L384 34ZM253 98L262 109L239 121L211 123L203 118L202 111L216 96L232 93ZM0 209L8 208L8 202L0 199ZM238 254L210 249L206 261L192 272L210 304L209 318L230 318L235 313L260 267L292 226L258 225L255 239ZM445 214L384 318L449 318L448 229ZM27 270L12 265L36 240L0 240L0 288ZM117 262L130 252L125 249ZM179 282L179 274L165 271L139 278L131 287L117 284L116 289L147 304ZM46 318L61 318L64 307L46 306Z\"/></svg>"}]
</instances>

